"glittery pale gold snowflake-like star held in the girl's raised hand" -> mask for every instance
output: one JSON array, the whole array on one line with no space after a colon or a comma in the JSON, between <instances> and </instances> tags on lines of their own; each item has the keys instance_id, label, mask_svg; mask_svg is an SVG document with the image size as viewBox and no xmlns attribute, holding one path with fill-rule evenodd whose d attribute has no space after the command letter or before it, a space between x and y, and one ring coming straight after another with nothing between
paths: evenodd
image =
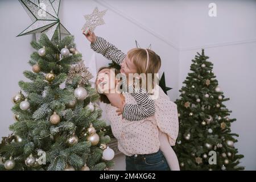
<instances>
[{"instance_id":1,"label":"glittery pale gold snowflake-like star held in the girl's raised hand","mask_svg":"<svg viewBox=\"0 0 256 182\"><path fill-rule=\"evenodd\" d=\"M103 16L106 14L106 11L107 10L98 11L96 7L92 14L84 15L86 23L82 27L82 30L85 31L85 34L87 34L88 31L93 32L97 26L105 24Z\"/></svg>"}]
</instances>

